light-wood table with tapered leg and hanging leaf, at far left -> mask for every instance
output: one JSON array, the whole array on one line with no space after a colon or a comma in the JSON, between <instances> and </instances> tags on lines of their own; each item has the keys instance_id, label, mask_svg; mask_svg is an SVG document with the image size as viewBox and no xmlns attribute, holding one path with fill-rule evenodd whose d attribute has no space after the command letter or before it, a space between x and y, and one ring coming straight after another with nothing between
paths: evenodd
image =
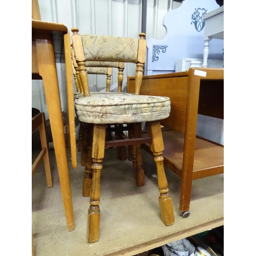
<instances>
[{"instance_id":1,"label":"light-wood table with tapered leg and hanging leaf, at far left","mask_svg":"<svg viewBox=\"0 0 256 256\"><path fill-rule=\"evenodd\" d=\"M75 228L75 224L65 132L62 120L56 61L54 55L53 33L63 34L68 90L72 90L73 88L70 34L67 27L65 27L63 24L32 20L32 79L42 79L44 83L62 199L65 208L68 230L71 231ZM71 108L69 108L70 120L74 122L73 98L70 99L69 97L68 102L71 104ZM74 125L70 127L72 141L71 158L72 166L76 168L76 151L74 144L75 131L73 130Z\"/></svg>"}]
</instances>

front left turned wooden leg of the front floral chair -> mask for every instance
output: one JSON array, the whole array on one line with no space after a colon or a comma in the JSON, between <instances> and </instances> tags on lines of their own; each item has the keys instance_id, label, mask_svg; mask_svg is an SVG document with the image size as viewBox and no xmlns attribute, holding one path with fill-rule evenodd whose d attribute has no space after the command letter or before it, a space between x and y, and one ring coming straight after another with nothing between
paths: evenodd
<instances>
[{"instance_id":1,"label":"front left turned wooden leg of the front floral chair","mask_svg":"<svg viewBox=\"0 0 256 256\"><path fill-rule=\"evenodd\" d=\"M102 169L102 160L104 158L105 150L105 136L106 125L94 124L93 127L93 180L90 193L90 207L88 210L88 228L87 228L87 241L89 243L95 243L99 240L99 198L100 198L100 171Z\"/></svg>"}]
</instances>

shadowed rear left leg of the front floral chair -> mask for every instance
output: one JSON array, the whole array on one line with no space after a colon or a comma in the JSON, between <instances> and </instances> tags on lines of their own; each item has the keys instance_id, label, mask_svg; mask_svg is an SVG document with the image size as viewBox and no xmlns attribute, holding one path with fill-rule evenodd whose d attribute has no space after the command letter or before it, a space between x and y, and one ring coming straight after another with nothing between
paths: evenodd
<instances>
[{"instance_id":1,"label":"shadowed rear left leg of the front floral chair","mask_svg":"<svg viewBox=\"0 0 256 256\"><path fill-rule=\"evenodd\" d=\"M93 124L88 124L87 138L84 140L84 147L82 148L85 152L83 162L85 162L86 169L83 178L83 197L89 197L91 186L92 186L92 137L93 137Z\"/></svg>"}]
</instances>

